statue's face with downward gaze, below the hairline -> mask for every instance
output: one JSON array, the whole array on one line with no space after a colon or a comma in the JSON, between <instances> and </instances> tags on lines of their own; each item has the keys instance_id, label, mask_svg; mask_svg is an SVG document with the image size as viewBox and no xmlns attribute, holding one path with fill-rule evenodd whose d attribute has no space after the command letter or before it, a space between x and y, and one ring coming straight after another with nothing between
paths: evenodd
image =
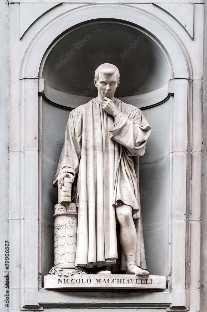
<instances>
[{"instance_id":1,"label":"statue's face with downward gaze, below the hairline","mask_svg":"<svg viewBox=\"0 0 207 312\"><path fill-rule=\"evenodd\" d=\"M115 73L112 76L106 76L99 73L99 80L96 82L94 79L94 84L98 88L98 92L103 97L108 97L109 99L113 97L116 88L119 85L118 76Z\"/></svg>"}]
</instances>

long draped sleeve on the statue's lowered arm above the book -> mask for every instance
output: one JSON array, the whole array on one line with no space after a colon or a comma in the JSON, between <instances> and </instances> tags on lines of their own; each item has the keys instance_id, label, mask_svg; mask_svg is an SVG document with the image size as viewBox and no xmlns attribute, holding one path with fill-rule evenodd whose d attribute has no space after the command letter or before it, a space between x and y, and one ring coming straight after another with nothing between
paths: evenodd
<instances>
[{"instance_id":1,"label":"long draped sleeve on the statue's lowered arm above the book","mask_svg":"<svg viewBox=\"0 0 207 312\"><path fill-rule=\"evenodd\" d=\"M65 143L60 154L57 171L52 180L53 186L57 188L57 177L59 173L72 173L74 177L78 173L79 160L81 156L82 141L82 108L79 106L70 112L65 130Z\"/></svg>"}]
</instances>

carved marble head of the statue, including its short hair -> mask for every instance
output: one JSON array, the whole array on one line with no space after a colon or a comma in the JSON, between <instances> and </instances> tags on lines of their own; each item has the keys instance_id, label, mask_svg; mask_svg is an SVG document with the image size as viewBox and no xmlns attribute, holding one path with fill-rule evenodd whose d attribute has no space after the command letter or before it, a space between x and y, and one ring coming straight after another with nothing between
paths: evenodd
<instances>
[{"instance_id":1,"label":"carved marble head of the statue, including its short hair","mask_svg":"<svg viewBox=\"0 0 207 312\"><path fill-rule=\"evenodd\" d=\"M113 98L119 82L119 70L115 65L105 63L96 69L94 84L102 97Z\"/></svg>"}]
</instances>

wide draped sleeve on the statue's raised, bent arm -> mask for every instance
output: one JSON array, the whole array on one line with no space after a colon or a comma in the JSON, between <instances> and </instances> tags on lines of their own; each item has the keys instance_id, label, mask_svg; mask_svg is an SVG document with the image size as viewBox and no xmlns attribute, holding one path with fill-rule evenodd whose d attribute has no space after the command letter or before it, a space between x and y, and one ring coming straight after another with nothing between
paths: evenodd
<instances>
[{"instance_id":1,"label":"wide draped sleeve on the statue's raised, bent arm","mask_svg":"<svg viewBox=\"0 0 207 312\"><path fill-rule=\"evenodd\" d=\"M132 106L128 115L120 113L108 131L110 138L123 145L129 156L144 155L151 127L140 109Z\"/></svg>"}]
</instances>

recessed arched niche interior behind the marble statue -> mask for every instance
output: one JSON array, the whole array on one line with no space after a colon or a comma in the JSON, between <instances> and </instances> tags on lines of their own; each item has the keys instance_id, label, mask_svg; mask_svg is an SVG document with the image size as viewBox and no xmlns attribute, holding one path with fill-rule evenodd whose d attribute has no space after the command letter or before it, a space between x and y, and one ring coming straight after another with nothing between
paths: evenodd
<instances>
[{"instance_id":1,"label":"recessed arched niche interior behind the marble statue","mask_svg":"<svg viewBox=\"0 0 207 312\"><path fill-rule=\"evenodd\" d=\"M123 21L96 20L62 34L46 52L42 99L42 233L53 226L57 191L55 175L71 109L97 96L94 71L109 62L120 69L115 96L140 107L152 126L145 156L139 162L140 194L147 266L151 274L168 275L169 172L172 71L166 51L143 29ZM50 129L50 131L48 131ZM137 162L137 158L134 159ZM44 230L45 229L45 230ZM53 245L42 246L45 273L52 265ZM44 263L45 261L45 263ZM44 266L43 266L44 267Z\"/></svg>"}]
</instances>

